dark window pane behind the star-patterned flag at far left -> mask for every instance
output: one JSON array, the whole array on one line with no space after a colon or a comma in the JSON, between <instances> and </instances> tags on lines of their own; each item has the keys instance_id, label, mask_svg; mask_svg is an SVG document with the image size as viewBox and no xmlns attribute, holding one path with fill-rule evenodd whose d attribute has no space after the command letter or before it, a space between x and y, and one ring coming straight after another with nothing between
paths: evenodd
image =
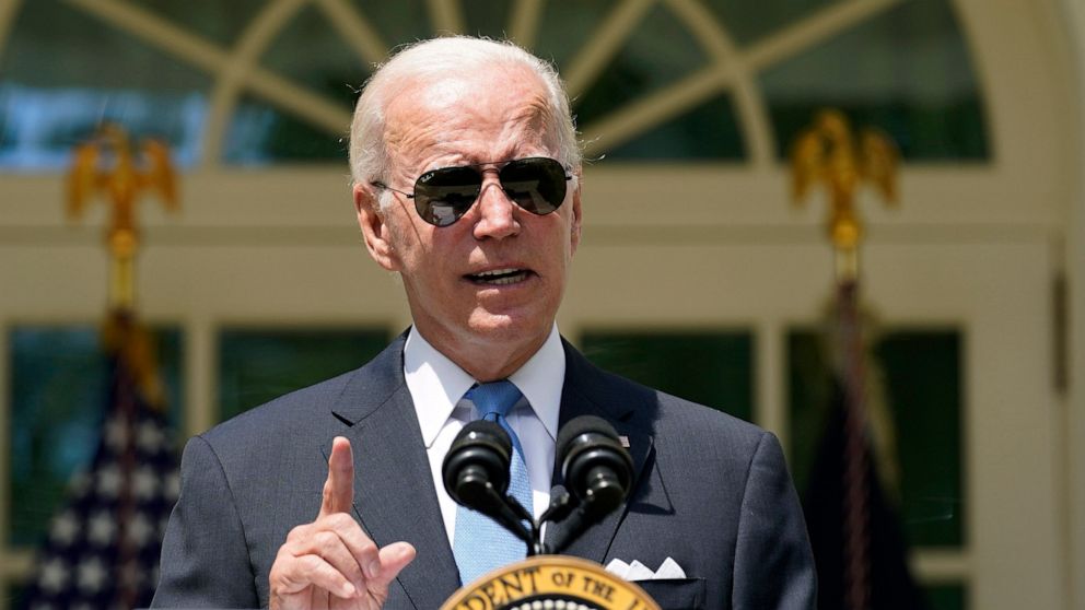
<instances>
[{"instance_id":1,"label":"dark window pane behind the star-patterned flag at far left","mask_svg":"<svg viewBox=\"0 0 1085 610\"><path fill-rule=\"evenodd\" d=\"M182 337L155 328L171 425L179 430ZM12 362L12 546L40 541L69 479L90 466L108 404L107 357L93 326L21 326L9 335Z\"/></svg>"}]
</instances>

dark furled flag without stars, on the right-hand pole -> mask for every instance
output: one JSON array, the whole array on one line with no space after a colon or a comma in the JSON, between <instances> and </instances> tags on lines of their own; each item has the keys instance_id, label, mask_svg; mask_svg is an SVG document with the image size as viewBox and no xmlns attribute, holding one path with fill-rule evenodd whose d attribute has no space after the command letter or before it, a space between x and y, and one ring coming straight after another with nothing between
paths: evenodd
<instances>
[{"instance_id":1,"label":"dark furled flag without stars, on the right-hand pole","mask_svg":"<svg viewBox=\"0 0 1085 610\"><path fill-rule=\"evenodd\" d=\"M866 384L867 347L856 284L837 288L835 391L803 497L820 610L925 610L908 565L898 507L872 443L870 413L885 404Z\"/></svg>"}]
</instances>

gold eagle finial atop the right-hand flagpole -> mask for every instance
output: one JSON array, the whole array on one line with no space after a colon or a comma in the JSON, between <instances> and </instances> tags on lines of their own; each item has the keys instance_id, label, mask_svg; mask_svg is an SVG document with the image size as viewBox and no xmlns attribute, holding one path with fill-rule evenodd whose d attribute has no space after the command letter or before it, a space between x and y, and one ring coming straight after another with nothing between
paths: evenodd
<instances>
[{"instance_id":1,"label":"gold eagle finial atop the right-hand flagpole","mask_svg":"<svg viewBox=\"0 0 1085 610\"><path fill-rule=\"evenodd\" d=\"M899 156L896 144L882 131L865 128L856 139L843 113L821 110L792 144L792 198L802 204L814 187L825 186L831 206L829 238L838 253L854 253L863 237L855 192L867 183L889 206L896 206Z\"/></svg>"}]
</instances>

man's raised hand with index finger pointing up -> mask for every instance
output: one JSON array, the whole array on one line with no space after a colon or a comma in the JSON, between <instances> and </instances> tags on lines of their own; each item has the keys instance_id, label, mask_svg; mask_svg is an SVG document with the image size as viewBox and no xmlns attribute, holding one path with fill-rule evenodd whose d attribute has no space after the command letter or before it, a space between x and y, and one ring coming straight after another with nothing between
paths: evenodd
<instances>
[{"instance_id":1,"label":"man's raised hand with index finger pointing up","mask_svg":"<svg viewBox=\"0 0 1085 610\"><path fill-rule=\"evenodd\" d=\"M290 530L271 565L271 610L375 610L388 599L388 584L415 559L415 548L377 549L350 516L353 501L350 441L337 436L320 513Z\"/></svg>"}]
</instances>

